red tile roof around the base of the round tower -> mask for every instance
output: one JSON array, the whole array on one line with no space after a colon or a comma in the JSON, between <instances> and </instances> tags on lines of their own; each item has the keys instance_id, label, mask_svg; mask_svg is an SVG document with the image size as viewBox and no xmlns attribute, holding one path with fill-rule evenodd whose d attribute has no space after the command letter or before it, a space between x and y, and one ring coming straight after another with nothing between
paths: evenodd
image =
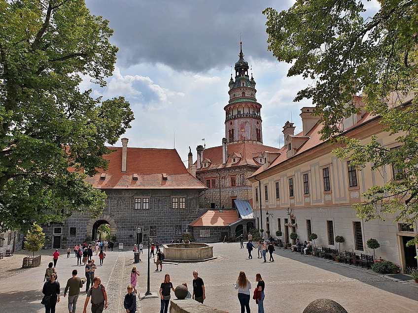
<instances>
[{"instance_id":1,"label":"red tile roof around the base of the round tower","mask_svg":"<svg viewBox=\"0 0 418 313\"><path fill-rule=\"evenodd\" d=\"M197 172L212 170L215 168L225 168L225 167L234 167L242 165L252 165L252 166L261 166L262 164L258 163L254 158L257 158L259 153L268 152L279 152L278 148L273 148L269 146L257 145L252 143L234 143L228 144L228 160L226 164L222 164L222 146L212 147L205 149L203 152L203 160L210 159L211 163L208 167L202 167L198 169ZM237 163L232 163L232 155L236 154L241 156L240 160ZM196 162L195 164L196 165Z\"/></svg>"}]
</instances>

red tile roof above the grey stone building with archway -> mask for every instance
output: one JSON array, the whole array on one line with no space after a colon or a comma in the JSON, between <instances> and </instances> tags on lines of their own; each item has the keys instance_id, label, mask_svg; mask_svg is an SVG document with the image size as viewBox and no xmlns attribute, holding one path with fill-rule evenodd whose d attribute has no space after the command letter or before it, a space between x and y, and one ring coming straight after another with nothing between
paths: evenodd
<instances>
[{"instance_id":1,"label":"red tile roof above the grey stone building with archway","mask_svg":"<svg viewBox=\"0 0 418 313\"><path fill-rule=\"evenodd\" d=\"M107 171L87 177L86 182L100 189L204 189L198 179L187 171L175 149L127 148L126 172L122 172L122 148L108 147ZM100 180L101 173L105 180ZM167 174L167 180L163 175ZM138 180L133 175L138 174Z\"/></svg>"}]
</instances>

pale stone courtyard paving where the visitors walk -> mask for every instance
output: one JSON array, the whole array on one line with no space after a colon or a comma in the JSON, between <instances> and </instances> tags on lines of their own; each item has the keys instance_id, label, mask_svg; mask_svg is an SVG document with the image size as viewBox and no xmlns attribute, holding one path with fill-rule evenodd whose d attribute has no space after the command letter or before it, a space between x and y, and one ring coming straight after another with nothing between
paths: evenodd
<instances>
[{"instance_id":1,"label":"pale stone courtyard paving where the visitors walk","mask_svg":"<svg viewBox=\"0 0 418 313\"><path fill-rule=\"evenodd\" d=\"M239 243L213 244L217 259L203 263L165 264L162 272L155 272L151 259L151 292L158 295L165 273L170 273L174 286L187 282L189 290L192 284L192 271L197 270L206 286L205 304L228 312L240 312L236 282L239 271L247 274L253 286L255 274L260 273L266 282L265 312L303 312L304 308L318 298L337 301L348 312L387 312L417 313L418 284L396 282L390 277L376 275L371 270L360 270L353 266L342 266L336 262L307 257L287 250L275 251L275 262L263 263L254 258L247 259L247 251L240 249ZM128 249L125 247L125 249ZM42 250L42 265L34 269L19 269L22 266L22 254L0 260L0 312L44 312L40 304L42 299L43 275L47 263L52 260L53 250ZM147 250L144 250L147 253ZM24 252L22 252L24 253ZM98 257L96 264L99 263ZM146 291L146 256L135 264L140 276L138 290L140 297ZM5 261L5 262L3 262ZM96 276L100 276L109 295L110 313L121 313L126 286L130 282L133 253L130 250L108 252L104 266L99 266ZM74 254L67 259L66 253L60 256L57 264L58 281L62 293L71 271L77 268L81 276L83 266L76 266ZM253 289L252 289L253 290ZM174 296L172 294L172 296ZM82 292L77 303L77 312L82 312L85 293ZM89 306L90 307L90 306ZM139 313L159 312L159 298L138 301ZM252 312L257 312L257 305L251 300ZM57 304L57 313L67 313L67 299L61 295ZM90 310L88 310L90 312Z\"/></svg>"}]
</instances>

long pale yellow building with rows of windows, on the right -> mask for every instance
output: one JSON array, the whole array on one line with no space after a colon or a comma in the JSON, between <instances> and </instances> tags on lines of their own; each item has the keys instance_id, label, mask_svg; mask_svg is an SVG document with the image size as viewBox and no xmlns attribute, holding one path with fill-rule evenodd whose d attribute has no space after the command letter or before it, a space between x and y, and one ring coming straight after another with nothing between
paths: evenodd
<instances>
[{"instance_id":1,"label":"long pale yellow building with rows of windows, on the right","mask_svg":"<svg viewBox=\"0 0 418 313\"><path fill-rule=\"evenodd\" d=\"M357 97L361 103L361 97ZM409 99L410 101L411 99ZM366 222L356 217L353 203L363 201L361 193L368 188L383 185L394 177L391 166L372 171L367 164L362 171L349 166L349 158L340 160L332 151L337 144L320 140L318 131L322 125L312 115L314 108L301 109L303 131L294 135L292 123L283 127L285 145L279 153L264 154L261 166L250 178L253 190L253 208L256 226L283 233L282 240L289 242L289 234L296 232L303 242L316 233L317 247L338 249L336 236L343 236L341 251L373 255L366 241L375 238L380 243L376 258L381 256L402 269L417 267L417 247L406 247L407 241L417 235L414 228L402 222L393 222L387 215L385 221L375 219ZM375 134L388 149L399 146L395 135L389 136L379 124L380 118L362 111L343 121L344 135L349 138L370 141ZM261 206L261 210L260 210Z\"/></svg>"}]
</instances>

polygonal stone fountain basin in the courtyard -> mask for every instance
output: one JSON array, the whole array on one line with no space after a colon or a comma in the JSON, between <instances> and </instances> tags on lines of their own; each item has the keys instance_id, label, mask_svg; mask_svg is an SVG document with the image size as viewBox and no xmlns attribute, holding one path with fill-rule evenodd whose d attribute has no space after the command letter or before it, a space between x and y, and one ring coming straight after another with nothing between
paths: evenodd
<instances>
[{"instance_id":1,"label":"polygonal stone fountain basin in the courtyard","mask_svg":"<svg viewBox=\"0 0 418 313\"><path fill-rule=\"evenodd\" d=\"M213 260L213 247L201 243L167 244L164 246L164 261L167 262L204 262Z\"/></svg>"}]
</instances>

